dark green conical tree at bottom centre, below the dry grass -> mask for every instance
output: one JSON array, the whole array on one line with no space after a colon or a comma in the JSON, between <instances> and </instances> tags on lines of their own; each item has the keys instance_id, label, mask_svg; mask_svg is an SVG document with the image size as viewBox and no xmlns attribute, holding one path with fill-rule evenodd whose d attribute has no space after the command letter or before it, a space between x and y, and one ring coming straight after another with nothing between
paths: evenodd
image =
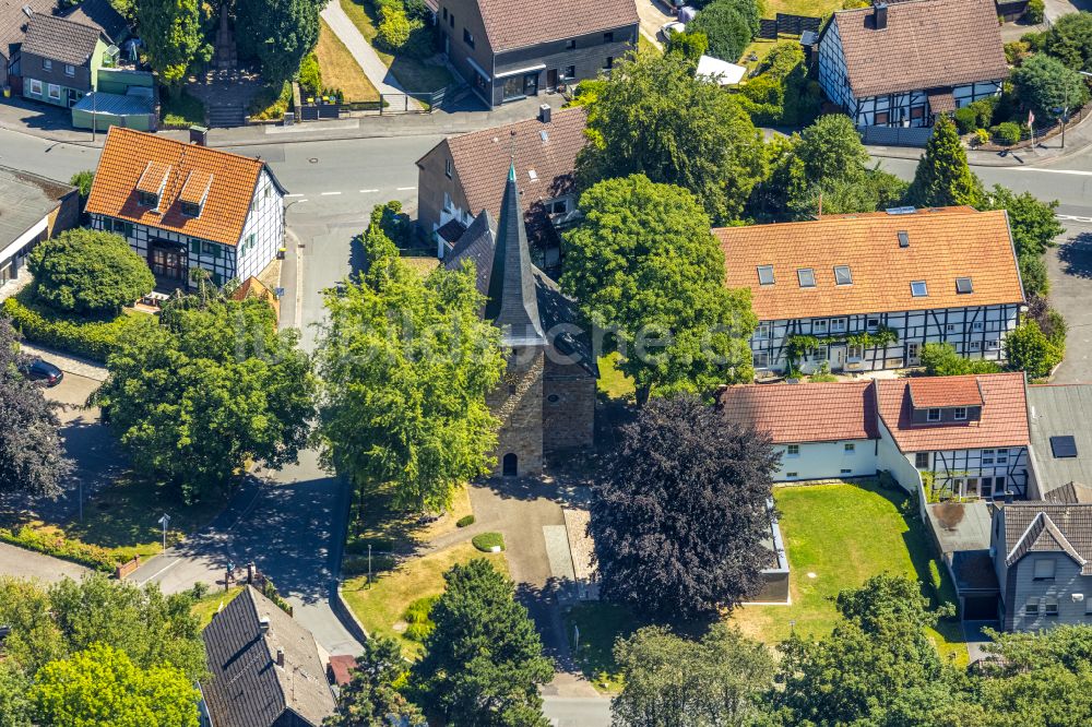
<instances>
[{"instance_id":1,"label":"dark green conical tree at bottom centre, below the dry grass","mask_svg":"<svg viewBox=\"0 0 1092 727\"><path fill-rule=\"evenodd\" d=\"M554 667L514 584L482 558L443 580L436 630L413 667L417 702L460 727L546 727L538 687Z\"/></svg>"}]
</instances>

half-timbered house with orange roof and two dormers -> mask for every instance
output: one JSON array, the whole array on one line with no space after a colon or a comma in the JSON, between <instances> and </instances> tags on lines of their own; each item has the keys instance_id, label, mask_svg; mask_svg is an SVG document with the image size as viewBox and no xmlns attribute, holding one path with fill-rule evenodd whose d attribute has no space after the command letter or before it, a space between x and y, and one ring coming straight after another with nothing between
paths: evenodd
<instances>
[{"instance_id":1,"label":"half-timbered house with orange roof and two dormers","mask_svg":"<svg viewBox=\"0 0 1092 727\"><path fill-rule=\"evenodd\" d=\"M111 127L86 212L95 229L123 235L161 286L187 287L195 267L223 285L276 258L284 196L260 159Z\"/></svg>"}]
</instances>

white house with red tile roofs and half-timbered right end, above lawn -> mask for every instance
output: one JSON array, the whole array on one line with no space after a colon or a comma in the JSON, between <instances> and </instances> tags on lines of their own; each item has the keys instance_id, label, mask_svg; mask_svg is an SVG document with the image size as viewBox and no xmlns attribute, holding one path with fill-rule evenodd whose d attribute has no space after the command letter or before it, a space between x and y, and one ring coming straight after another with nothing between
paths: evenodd
<instances>
[{"instance_id":1,"label":"white house with red tile roofs and half-timbered right end, above lawn","mask_svg":"<svg viewBox=\"0 0 1092 727\"><path fill-rule=\"evenodd\" d=\"M935 499L1024 497L1029 425L1022 373L809 384L720 394L729 420L769 433L778 481L890 472Z\"/></svg>"}]
</instances>

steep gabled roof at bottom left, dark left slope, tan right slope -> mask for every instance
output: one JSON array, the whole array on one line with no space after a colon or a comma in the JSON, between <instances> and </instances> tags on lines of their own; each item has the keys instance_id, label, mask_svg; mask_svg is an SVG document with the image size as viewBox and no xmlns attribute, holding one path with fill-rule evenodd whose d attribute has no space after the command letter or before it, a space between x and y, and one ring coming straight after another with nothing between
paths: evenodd
<instances>
[{"instance_id":1,"label":"steep gabled roof at bottom left, dark left slope, tan right slope","mask_svg":"<svg viewBox=\"0 0 1092 727\"><path fill-rule=\"evenodd\" d=\"M269 618L261 633L259 620ZM318 727L334 712L311 633L251 586L213 617L202 634L212 677L202 683L216 727L270 727L284 714ZM284 667L276 666L277 648Z\"/></svg>"}]
</instances>

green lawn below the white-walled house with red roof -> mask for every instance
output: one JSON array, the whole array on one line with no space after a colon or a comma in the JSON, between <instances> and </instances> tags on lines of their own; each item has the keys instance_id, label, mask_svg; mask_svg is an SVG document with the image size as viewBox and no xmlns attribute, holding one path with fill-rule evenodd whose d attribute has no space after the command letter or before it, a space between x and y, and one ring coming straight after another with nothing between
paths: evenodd
<instances>
[{"instance_id":1,"label":"green lawn below the white-walled house with red roof","mask_svg":"<svg viewBox=\"0 0 1092 727\"><path fill-rule=\"evenodd\" d=\"M781 487L774 500L788 549L793 603L736 610L731 620L744 633L769 644L783 641L794 629L823 635L838 618L831 598L840 591L879 573L929 582L928 534L919 520L903 516L900 505L906 498L901 491L875 484ZM958 632L957 624L942 623L931 636L942 654L966 664Z\"/></svg>"}]
</instances>

